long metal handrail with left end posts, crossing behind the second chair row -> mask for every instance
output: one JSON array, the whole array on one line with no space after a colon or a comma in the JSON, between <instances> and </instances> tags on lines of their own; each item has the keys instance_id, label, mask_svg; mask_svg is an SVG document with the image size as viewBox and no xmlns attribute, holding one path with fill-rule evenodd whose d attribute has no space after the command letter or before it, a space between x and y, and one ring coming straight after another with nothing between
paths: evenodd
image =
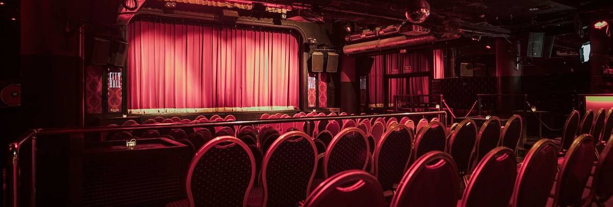
<instances>
[{"instance_id":1,"label":"long metal handrail with left end posts, crossing behind the second chair row","mask_svg":"<svg viewBox=\"0 0 613 207\"><path fill-rule=\"evenodd\" d=\"M151 125L132 125L132 126L94 126L87 128L45 128L31 129L21 135L16 142L9 144L9 152L12 154L12 205L18 206L19 192L19 151L22 145L26 142L32 142L32 173L31 173L31 205L35 206L36 202L36 136L53 135L53 134L80 134L80 133L102 133L110 131L131 131L137 129L167 129L167 128L185 128L185 127L207 127L207 126L237 126L237 125L262 125L270 123L289 123L289 122L306 122L307 130L310 130L311 122L321 120L338 120L338 119L356 119L356 118L375 118L375 117L401 117L401 116L420 116L420 115L443 115L444 124L446 125L447 112L432 111L432 112L405 112L394 114L371 114L371 115L337 115L326 117L300 117L300 118L273 118L265 120L245 120L245 121L227 121L227 122L207 122L207 123L158 123ZM310 134L310 132L307 132Z\"/></svg>"}]
</instances>

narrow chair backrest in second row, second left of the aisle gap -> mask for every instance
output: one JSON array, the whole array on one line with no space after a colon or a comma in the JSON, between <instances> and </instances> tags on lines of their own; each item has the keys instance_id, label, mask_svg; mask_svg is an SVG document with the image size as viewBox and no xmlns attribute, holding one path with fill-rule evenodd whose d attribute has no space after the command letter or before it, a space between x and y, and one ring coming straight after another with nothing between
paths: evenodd
<instances>
[{"instance_id":1,"label":"narrow chair backrest in second row, second left of the aisle gap","mask_svg":"<svg viewBox=\"0 0 613 207\"><path fill-rule=\"evenodd\" d=\"M473 159L472 166L476 166L485 154L498 147L498 142L500 142L500 119L498 117L492 117L485 121L481 129L479 129L475 154L473 158L471 158Z\"/></svg>"}]
</instances>

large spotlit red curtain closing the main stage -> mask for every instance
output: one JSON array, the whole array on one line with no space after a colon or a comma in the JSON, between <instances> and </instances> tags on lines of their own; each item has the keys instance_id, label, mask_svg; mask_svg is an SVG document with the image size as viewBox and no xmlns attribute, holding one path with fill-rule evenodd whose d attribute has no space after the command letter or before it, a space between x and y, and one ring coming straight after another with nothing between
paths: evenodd
<instances>
[{"instance_id":1,"label":"large spotlit red curtain closing the main stage","mask_svg":"<svg viewBox=\"0 0 613 207\"><path fill-rule=\"evenodd\" d=\"M137 20L128 26L128 43L131 113L299 106L300 51L292 32Z\"/></svg>"}]
</instances>

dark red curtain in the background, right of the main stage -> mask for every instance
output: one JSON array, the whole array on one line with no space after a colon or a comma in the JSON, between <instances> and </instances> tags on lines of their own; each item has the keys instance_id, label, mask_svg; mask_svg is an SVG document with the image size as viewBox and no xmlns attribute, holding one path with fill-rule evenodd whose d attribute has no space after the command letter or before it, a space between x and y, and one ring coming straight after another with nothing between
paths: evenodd
<instances>
[{"instance_id":1,"label":"dark red curtain in the background, right of the main stage","mask_svg":"<svg viewBox=\"0 0 613 207\"><path fill-rule=\"evenodd\" d=\"M383 72L385 74L418 73L430 71L432 52L391 53L373 56L375 61L369 74L370 107L383 107ZM387 103L393 106L394 95L429 94L428 76L389 79Z\"/></svg>"}]
</instances>

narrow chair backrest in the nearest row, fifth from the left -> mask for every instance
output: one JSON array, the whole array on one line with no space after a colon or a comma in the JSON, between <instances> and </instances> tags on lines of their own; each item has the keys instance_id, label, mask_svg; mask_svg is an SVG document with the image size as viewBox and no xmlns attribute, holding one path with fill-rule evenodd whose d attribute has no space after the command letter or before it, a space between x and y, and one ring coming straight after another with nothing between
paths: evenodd
<instances>
[{"instance_id":1,"label":"narrow chair backrest in the nearest row, fifth from the left","mask_svg":"<svg viewBox=\"0 0 613 207\"><path fill-rule=\"evenodd\" d=\"M553 206L581 206L581 196L596 159L594 142L588 134L573 141L558 173Z\"/></svg>"}]
</instances>

